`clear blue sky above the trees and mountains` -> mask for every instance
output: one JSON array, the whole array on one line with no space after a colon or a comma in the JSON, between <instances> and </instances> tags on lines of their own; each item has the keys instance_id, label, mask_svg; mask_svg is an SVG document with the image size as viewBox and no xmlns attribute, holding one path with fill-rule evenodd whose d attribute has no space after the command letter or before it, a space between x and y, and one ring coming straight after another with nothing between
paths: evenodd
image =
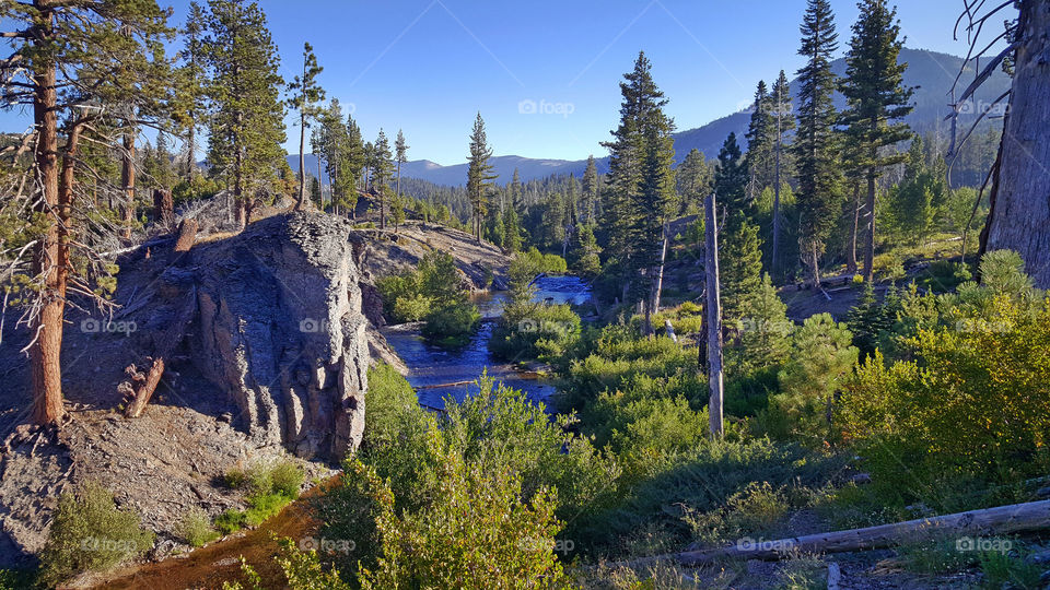
<instances>
[{"instance_id":1,"label":"clear blue sky above the trees and mountains","mask_svg":"<svg viewBox=\"0 0 1050 590\"><path fill-rule=\"evenodd\" d=\"M162 1L162 4L165 3ZM188 0L171 3L180 23ZM404 129L410 160L466 160L476 111L497 155L579 160L604 154L618 82L639 49L670 99L678 129L745 106L758 80L801 66L805 0L260 0L290 79L304 40L328 97L353 109L368 139ZM832 0L840 54L858 14ZM952 26L962 0L901 0L910 47L965 55ZM27 118L0 113L0 130ZM287 148L298 151L289 117Z\"/></svg>"}]
</instances>

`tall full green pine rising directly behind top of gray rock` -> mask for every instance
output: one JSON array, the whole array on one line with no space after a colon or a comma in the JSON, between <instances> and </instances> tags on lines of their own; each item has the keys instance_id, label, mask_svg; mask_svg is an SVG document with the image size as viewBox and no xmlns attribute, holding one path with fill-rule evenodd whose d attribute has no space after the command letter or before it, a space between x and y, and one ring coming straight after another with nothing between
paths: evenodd
<instances>
[{"instance_id":1,"label":"tall full green pine rising directly behind top of gray rock","mask_svg":"<svg viewBox=\"0 0 1050 590\"><path fill-rule=\"evenodd\" d=\"M284 160L283 80L258 4L209 0L208 5L208 161L232 185L237 223L244 227L252 199L272 192Z\"/></svg>"}]
</instances>

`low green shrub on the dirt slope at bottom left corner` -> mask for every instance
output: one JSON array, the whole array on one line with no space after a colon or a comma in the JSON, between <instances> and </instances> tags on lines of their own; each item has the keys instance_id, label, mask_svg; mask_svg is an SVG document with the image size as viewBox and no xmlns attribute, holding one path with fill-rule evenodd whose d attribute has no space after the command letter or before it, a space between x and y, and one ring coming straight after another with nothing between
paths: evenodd
<instances>
[{"instance_id":1,"label":"low green shrub on the dirt slope at bottom left corner","mask_svg":"<svg viewBox=\"0 0 1050 590\"><path fill-rule=\"evenodd\" d=\"M138 515L117 509L107 489L84 484L58 499L40 552L40 580L55 586L82 571L108 569L149 551L154 536L140 527Z\"/></svg>"}]
</instances>

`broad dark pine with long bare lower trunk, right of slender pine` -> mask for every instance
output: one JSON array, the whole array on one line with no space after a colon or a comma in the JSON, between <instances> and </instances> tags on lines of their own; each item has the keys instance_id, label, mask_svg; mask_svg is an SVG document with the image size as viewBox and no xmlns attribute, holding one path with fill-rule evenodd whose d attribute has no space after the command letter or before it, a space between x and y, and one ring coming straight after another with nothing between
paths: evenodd
<instances>
[{"instance_id":1,"label":"broad dark pine with long bare lower trunk, right of slender pine","mask_svg":"<svg viewBox=\"0 0 1050 590\"><path fill-rule=\"evenodd\" d=\"M875 261L875 182L879 172L903 162L903 154L880 154L888 145L911 137L901 119L914 108L909 105L913 90L905 87L907 63L897 63L903 39L897 10L886 0L862 0L861 15L853 25L850 52L845 58L847 79L841 86L848 108L842 114L847 133L858 143L860 167L867 180L867 206L864 208L864 275L874 276ZM897 122L894 122L897 121Z\"/></svg>"}]
</instances>

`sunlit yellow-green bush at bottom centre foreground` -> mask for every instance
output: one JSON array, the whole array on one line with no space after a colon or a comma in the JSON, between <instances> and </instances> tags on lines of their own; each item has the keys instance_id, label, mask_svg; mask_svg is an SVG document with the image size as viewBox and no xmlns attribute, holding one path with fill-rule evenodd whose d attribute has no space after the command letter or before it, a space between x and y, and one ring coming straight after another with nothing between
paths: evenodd
<instances>
[{"instance_id":1,"label":"sunlit yellow-green bush at bottom centre foreground","mask_svg":"<svg viewBox=\"0 0 1050 590\"><path fill-rule=\"evenodd\" d=\"M524 502L520 475L468 461L438 430L427 450L438 465L438 486L418 511L397 514L380 476L352 465L380 507L382 554L374 568L360 571L362 588L504 588L525 580L538 588L570 586L555 554L561 523L552 492L537 489Z\"/></svg>"}]
</instances>

